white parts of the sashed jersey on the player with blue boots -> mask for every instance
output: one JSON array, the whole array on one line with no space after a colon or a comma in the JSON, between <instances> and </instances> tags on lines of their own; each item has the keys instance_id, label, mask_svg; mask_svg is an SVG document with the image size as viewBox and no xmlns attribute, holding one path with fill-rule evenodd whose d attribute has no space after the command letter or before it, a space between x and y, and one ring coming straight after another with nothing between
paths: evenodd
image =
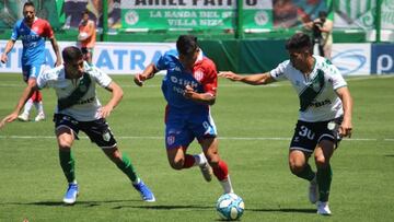
<instances>
[{"instance_id":1,"label":"white parts of the sashed jersey on the player with blue boots","mask_svg":"<svg viewBox=\"0 0 394 222\"><path fill-rule=\"evenodd\" d=\"M101 103L96 95L95 85L99 84L102 87L107 87L111 84L112 79L96 67L90 67L86 62L84 62L83 66L85 73L88 73L91 79L88 92L77 104L62 110L59 110L58 107L56 107L55 113L69 115L79 121L92 121L101 118L99 116ZM59 66L39 74L37 78L37 86L39 89L53 87L56 91L57 97L63 98L69 96L76 90L82 78L77 80L66 79L65 67Z\"/></svg>"}]
</instances>

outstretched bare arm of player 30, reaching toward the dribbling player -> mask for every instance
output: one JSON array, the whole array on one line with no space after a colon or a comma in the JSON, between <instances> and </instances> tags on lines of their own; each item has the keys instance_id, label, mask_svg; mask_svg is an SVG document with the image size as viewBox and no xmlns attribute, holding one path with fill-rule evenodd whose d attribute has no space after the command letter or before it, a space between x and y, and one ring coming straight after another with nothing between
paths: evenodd
<instances>
[{"instance_id":1,"label":"outstretched bare arm of player 30, reaching toward the dribbling player","mask_svg":"<svg viewBox=\"0 0 394 222\"><path fill-rule=\"evenodd\" d=\"M218 77L225 78L231 81L244 82L251 85L263 85L268 84L275 81L275 79L268 73L258 73L258 74L248 74L248 75L240 75L235 74L231 71L221 71Z\"/></svg>"}]
</instances>

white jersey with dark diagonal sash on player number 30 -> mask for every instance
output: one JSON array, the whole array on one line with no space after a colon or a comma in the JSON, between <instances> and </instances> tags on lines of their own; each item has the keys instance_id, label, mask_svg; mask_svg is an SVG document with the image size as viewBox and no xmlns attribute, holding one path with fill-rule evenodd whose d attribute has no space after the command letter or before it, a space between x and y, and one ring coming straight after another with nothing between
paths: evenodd
<instances>
[{"instance_id":1,"label":"white jersey with dark diagonal sash on player number 30","mask_svg":"<svg viewBox=\"0 0 394 222\"><path fill-rule=\"evenodd\" d=\"M270 71L275 80L288 79L300 100L299 119L303 121L326 121L344 114L336 90L347 86L339 70L329 60L313 56L315 63L306 77L286 60Z\"/></svg>"}]
</instances>

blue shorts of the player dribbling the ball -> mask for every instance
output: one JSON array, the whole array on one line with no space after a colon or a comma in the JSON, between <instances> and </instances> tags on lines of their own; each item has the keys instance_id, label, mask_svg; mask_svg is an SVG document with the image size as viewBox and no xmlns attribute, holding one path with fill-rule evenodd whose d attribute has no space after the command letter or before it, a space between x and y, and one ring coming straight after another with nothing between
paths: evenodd
<instances>
[{"instance_id":1,"label":"blue shorts of the player dribbling the ball","mask_svg":"<svg viewBox=\"0 0 394 222\"><path fill-rule=\"evenodd\" d=\"M217 129L209 108L188 114L167 108L165 115L166 149L187 148L195 138L200 140L215 137L217 137Z\"/></svg>"}]
</instances>

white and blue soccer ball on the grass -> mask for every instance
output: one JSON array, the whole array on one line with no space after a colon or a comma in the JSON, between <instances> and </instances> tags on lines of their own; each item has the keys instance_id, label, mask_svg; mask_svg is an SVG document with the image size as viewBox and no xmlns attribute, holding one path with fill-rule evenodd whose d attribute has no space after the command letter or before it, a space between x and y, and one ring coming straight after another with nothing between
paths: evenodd
<instances>
[{"instance_id":1,"label":"white and blue soccer ball on the grass","mask_svg":"<svg viewBox=\"0 0 394 222\"><path fill-rule=\"evenodd\" d=\"M217 211L223 220L237 220L244 210L244 201L235 194L225 194L218 199Z\"/></svg>"}]
</instances>

